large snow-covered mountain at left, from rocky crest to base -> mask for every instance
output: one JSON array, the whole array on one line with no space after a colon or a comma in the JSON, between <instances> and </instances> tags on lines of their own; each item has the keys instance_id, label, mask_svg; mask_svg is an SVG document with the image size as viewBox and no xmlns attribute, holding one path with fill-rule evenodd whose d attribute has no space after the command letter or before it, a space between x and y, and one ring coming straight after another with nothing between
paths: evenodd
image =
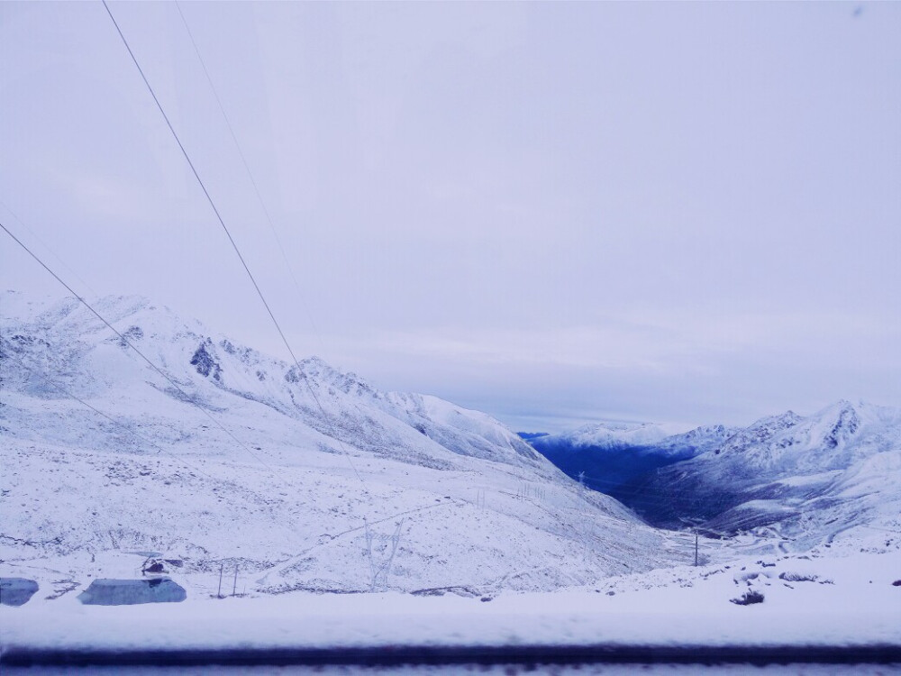
<instances>
[{"instance_id":1,"label":"large snow-covered mountain at left, from rocky crest to base","mask_svg":"<svg viewBox=\"0 0 901 676\"><path fill-rule=\"evenodd\" d=\"M672 560L490 416L92 305L124 340L75 299L0 295L2 574L68 589L152 553L207 590L224 566L252 592L484 593Z\"/></svg>"}]
</instances>

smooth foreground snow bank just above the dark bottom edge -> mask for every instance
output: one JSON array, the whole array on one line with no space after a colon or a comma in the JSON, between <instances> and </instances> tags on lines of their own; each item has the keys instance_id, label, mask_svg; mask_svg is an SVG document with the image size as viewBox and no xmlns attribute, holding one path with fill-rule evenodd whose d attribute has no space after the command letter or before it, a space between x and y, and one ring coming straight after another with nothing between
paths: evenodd
<instances>
[{"instance_id":1,"label":"smooth foreground snow bank just above the dark bottom edge","mask_svg":"<svg viewBox=\"0 0 901 676\"><path fill-rule=\"evenodd\" d=\"M296 592L87 607L74 595L0 608L12 648L366 645L901 645L901 552L748 559L596 588L495 598ZM731 603L748 590L762 603Z\"/></svg>"}]
</instances>

